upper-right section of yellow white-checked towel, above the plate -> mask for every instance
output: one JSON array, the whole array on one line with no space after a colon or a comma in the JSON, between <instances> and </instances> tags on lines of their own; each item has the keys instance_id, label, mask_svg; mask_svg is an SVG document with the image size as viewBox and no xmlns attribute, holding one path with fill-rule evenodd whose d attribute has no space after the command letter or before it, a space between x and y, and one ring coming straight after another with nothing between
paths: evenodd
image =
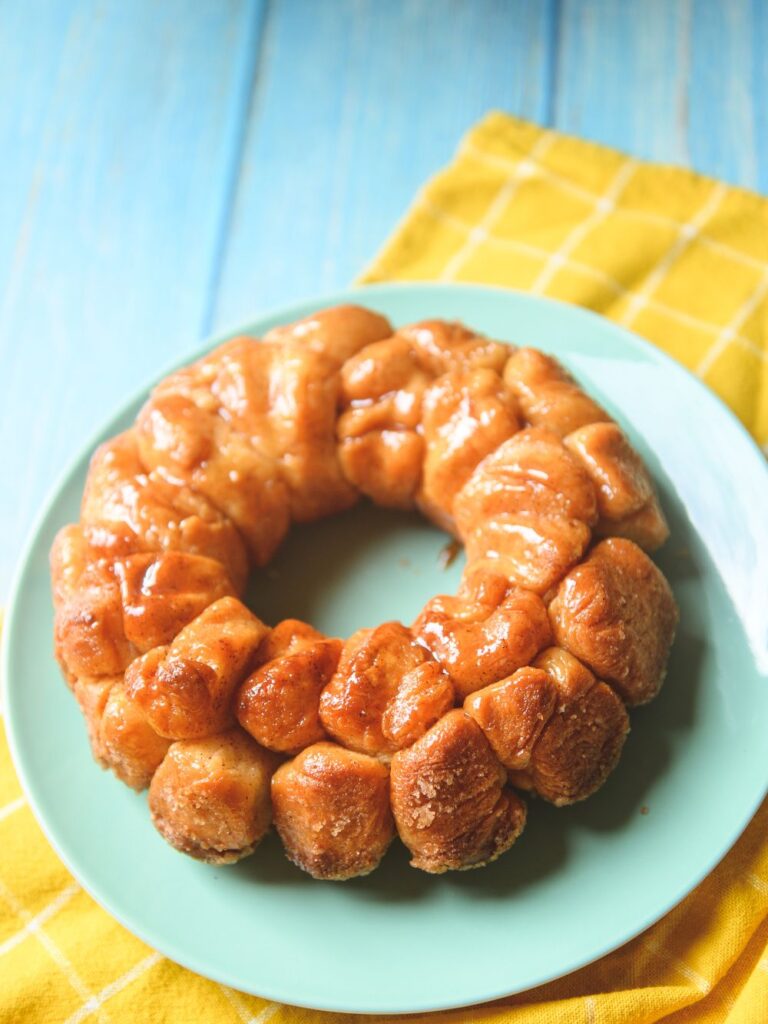
<instances>
[{"instance_id":1,"label":"upper-right section of yellow white-checked towel, above the plate","mask_svg":"<svg viewBox=\"0 0 768 1024\"><path fill-rule=\"evenodd\" d=\"M594 309L768 442L768 201L754 193L492 114L365 280L478 282Z\"/></svg>"}]
</instances>

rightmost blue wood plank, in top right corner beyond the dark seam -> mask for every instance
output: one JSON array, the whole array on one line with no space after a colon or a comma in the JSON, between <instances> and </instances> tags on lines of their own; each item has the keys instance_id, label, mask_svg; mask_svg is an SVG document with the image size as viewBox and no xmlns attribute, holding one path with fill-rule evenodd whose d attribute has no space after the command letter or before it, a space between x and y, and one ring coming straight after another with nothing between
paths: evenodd
<instances>
[{"instance_id":1,"label":"rightmost blue wood plank, in top right corner beyond the dark seam","mask_svg":"<svg viewBox=\"0 0 768 1024\"><path fill-rule=\"evenodd\" d=\"M762 0L565 0L554 124L768 190Z\"/></svg>"}]
</instances>

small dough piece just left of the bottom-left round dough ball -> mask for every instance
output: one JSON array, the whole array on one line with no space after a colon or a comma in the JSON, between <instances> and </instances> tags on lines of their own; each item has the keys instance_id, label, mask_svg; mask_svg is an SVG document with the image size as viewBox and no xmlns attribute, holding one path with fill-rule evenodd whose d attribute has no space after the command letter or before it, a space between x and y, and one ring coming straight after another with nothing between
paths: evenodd
<instances>
[{"instance_id":1,"label":"small dough piece just left of the bottom-left round dough ball","mask_svg":"<svg viewBox=\"0 0 768 1024\"><path fill-rule=\"evenodd\" d=\"M133 790L145 790L168 753L171 740L159 735L123 681L110 690L98 725L102 761Z\"/></svg>"}]
</instances>

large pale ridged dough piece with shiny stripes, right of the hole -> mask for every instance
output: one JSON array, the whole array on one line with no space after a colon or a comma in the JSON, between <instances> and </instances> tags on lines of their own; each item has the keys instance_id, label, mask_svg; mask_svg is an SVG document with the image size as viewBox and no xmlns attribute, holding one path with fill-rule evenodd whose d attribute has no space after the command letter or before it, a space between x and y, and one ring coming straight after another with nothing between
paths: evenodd
<instances>
[{"instance_id":1,"label":"large pale ridged dough piece with shiny stripes, right of the hole","mask_svg":"<svg viewBox=\"0 0 768 1024\"><path fill-rule=\"evenodd\" d=\"M469 565L546 594L586 551L597 499L560 438L529 427L482 460L454 514Z\"/></svg>"}]
</instances>

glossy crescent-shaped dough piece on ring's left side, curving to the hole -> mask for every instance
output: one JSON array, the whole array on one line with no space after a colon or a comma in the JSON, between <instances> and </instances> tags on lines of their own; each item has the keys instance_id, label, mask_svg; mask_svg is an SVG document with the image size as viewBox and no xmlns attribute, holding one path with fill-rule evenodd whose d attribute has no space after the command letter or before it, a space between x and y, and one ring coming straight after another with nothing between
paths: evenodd
<instances>
[{"instance_id":1,"label":"glossy crescent-shaped dough piece on ring's left side, curving to the hole","mask_svg":"<svg viewBox=\"0 0 768 1024\"><path fill-rule=\"evenodd\" d=\"M221 562L237 593L245 586L248 553L232 523L202 495L145 472L133 430L96 449L80 518L89 544L104 555L205 555Z\"/></svg>"}]
</instances>

